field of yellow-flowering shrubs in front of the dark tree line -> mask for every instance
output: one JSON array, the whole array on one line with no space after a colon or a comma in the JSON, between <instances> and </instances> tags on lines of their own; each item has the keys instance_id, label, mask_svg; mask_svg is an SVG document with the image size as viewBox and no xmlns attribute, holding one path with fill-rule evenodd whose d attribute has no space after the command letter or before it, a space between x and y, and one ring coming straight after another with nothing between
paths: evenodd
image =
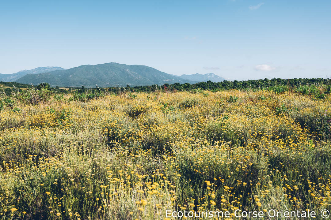
<instances>
[{"instance_id":1,"label":"field of yellow-flowering shrubs in front of the dark tree line","mask_svg":"<svg viewBox=\"0 0 331 220\"><path fill-rule=\"evenodd\" d=\"M263 90L14 100L0 111L0 219L331 209L330 119L330 95Z\"/></svg>"}]
</instances>

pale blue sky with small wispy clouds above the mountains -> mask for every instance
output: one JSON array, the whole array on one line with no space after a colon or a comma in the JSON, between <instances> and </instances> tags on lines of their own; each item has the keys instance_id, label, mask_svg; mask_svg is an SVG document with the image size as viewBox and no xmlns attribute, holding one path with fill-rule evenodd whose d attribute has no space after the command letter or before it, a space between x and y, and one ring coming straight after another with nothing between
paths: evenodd
<instances>
[{"instance_id":1,"label":"pale blue sky with small wispy clouds above the mountains","mask_svg":"<svg viewBox=\"0 0 331 220\"><path fill-rule=\"evenodd\" d=\"M117 62L228 80L331 77L331 1L0 1L0 73Z\"/></svg>"}]
</instances>

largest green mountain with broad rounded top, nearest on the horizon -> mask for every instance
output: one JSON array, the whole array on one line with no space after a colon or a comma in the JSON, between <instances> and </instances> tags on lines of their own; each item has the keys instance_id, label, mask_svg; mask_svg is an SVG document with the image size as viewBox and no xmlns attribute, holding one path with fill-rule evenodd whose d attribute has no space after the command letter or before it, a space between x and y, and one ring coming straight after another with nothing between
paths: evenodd
<instances>
[{"instance_id":1,"label":"largest green mountain with broad rounded top, nearest on the horizon","mask_svg":"<svg viewBox=\"0 0 331 220\"><path fill-rule=\"evenodd\" d=\"M27 74L16 80L18 83L38 85L49 83L51 86L115 87L163 85L165 83L196 83L178 76L166 74L149 66L104 63L83 65L66 70Z\"/></svg>"}]
</instances>

